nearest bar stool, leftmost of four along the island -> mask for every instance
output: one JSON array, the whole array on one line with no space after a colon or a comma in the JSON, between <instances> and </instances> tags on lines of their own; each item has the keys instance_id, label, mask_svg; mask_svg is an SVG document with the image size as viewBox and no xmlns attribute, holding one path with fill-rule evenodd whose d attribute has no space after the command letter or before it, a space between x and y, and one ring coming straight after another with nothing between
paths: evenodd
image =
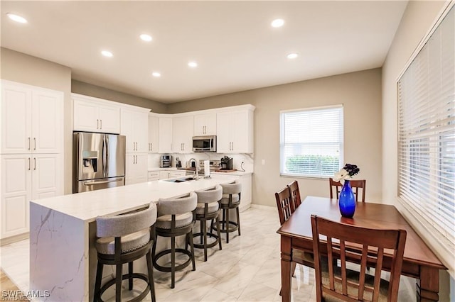
<instances>
[{"instance_id":1,"label":"nearest bar stool, leftmost of four along the island","mask_svg":"<svg viewBox=\"0 0 455 302\"><path fill-rule=\"evenodd\" d=\"M156 205L150 203L143 211L117 216L98 216L97 237L97 275L95 281L94 301L102 301L101 296L115 284L115 301L122 301L122 280L128 279L129 290L133 289L133 279L146 281L147 286L139 296L129 301L141 301L150 291L151 301L155 300L153 269L151 267L151 243L154 238ZM133 272L133 262L146 257L148 274ZM128 274L123 274L122 266L128 263ZM114 265L115 278L101 286L104 265Z\"/></svg>"}]
</instances>

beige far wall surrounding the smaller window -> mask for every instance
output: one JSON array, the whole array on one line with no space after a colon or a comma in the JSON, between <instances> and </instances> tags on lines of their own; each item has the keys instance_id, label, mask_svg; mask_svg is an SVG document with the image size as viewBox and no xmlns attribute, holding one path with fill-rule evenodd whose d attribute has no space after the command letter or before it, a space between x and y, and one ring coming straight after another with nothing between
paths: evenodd
<instances>
[{"instance_id":1,"label":"beige far wall surrounding the smaller window","mask_svg":"<svg viewBox=\"0 0 455 302\"><path fill-rule=\"evenodd\" d=\"M275 206L274 192L293 180L279 176L279 111L336 104L344 105L344 160L368 179L368 201L381 201L381 69L170 104L168 113L239 104L256 106L253 203ZM302 196L328 196L327 179L299 179L299 186Z\"/></svg>"}]
</instances>

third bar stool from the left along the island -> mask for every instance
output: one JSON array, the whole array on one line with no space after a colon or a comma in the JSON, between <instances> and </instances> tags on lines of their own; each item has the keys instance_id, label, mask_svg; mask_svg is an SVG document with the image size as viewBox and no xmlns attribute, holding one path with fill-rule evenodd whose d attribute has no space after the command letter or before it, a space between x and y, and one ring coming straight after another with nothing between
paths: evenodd
<instances>
[{"instance_id":1,"label":"third bar stool from the left along the island","mask_svg":"<svg viewBox=\"0 0 455 302\"><path fill-rule=\"evenodd\" d=\"M196 207L196 220L200 221L200 232L193 234L193 237L200 236L200 244L194 244L194 247L204 249L204 261L207 261L207 248L214 247L215 245L221 247L220 235L220 205L218 201L223 197L223 188L218 184L214 188L196 191L198 195L198 206ZM207 232L207 220L216 221L217 234ZM207 236L215 238L214 242L207 242Z\"/></svg>"}]
</instances>

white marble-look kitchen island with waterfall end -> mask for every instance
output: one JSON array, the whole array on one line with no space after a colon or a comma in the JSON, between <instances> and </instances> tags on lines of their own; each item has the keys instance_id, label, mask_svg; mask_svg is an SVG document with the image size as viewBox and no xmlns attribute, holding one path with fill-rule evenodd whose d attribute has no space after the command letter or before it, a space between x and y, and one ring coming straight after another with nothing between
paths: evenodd
<instances>
[{"instance_id":1,"label":"white marble-look kitchen island with waterfall end","mask_svg":"<svg viewBox=\"0 0 455 302\"><path fill-rule=\"evenodd\" d=\"M149 181L30 203L30 289L46 301L92 301L97 252L95 218L232 182L229 177Z\"/></svg>"}]
</instances>

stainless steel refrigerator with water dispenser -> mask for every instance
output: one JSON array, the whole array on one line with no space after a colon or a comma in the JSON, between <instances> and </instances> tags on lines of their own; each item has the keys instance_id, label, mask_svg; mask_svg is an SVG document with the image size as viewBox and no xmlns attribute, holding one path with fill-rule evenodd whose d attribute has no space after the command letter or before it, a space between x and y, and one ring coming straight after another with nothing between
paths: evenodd
<instances>
[{"instance_id":1,"label":"stainless steel refrigerator with water dispenser","mask_svg":"<svg viewBox=\"0 0 455 302\"><path fill-rule=\"evenodd\" d=\"M125 136L73 133L73 193L124 186Z\"/></svg>"}]
</instances>

